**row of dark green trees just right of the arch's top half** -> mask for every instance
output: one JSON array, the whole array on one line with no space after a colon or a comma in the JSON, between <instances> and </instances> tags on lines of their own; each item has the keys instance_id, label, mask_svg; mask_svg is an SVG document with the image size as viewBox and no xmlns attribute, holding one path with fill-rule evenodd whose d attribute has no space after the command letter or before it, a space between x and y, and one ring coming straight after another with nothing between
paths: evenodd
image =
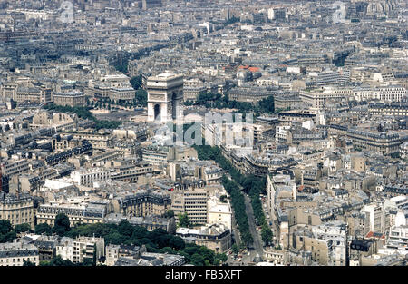
<instances>
[{"instance_id":1,"label":"row of dark green trees just right of the arch's top half","mask_svg":"<svg viewBox=\"0 0 408 284\"><path fill-rule=\"evenodd\" d=\"M265 99L260 100L257 104L245 103L238 101L230 101L227 95L220 93L199 93L199 96L195 102L187 101L185 105L201 105L207 108L217 109L238 109L240 113L254 112L256 116L260 113L274 113L274 97L268 96Z\"/></svg>"}]
</instances>

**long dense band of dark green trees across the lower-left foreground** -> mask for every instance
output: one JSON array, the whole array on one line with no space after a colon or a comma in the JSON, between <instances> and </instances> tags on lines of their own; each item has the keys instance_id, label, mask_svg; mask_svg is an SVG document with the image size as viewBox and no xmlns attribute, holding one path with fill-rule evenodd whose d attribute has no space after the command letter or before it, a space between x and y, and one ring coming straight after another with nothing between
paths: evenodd
<instances>
[{"instance_id":1,"label":"long dense band of dark green trees across the lower-left foreground","mask_svg":"<svg viewBox=\"0 0 408 284\"><path fill-rule=\"evenodd\" d=\"M172 212L168 212L173 216ZM185 243L178 236L169 234L166 230L156 229L152 231L140 226L132 226L127 220L116 224L77 224L70 227L69 219L64 214L58 214L55 218L55 225L51 228L48 224L42 223L35 226L35 233L76 238L78 236L102 237L105 244L116 245L145 245L149 252L179 254L184 256L188 263L194 265L219 265L220 261L226 261L227 256L215 253L206 247L191 243Z\"/></svg>"}]
</instances>

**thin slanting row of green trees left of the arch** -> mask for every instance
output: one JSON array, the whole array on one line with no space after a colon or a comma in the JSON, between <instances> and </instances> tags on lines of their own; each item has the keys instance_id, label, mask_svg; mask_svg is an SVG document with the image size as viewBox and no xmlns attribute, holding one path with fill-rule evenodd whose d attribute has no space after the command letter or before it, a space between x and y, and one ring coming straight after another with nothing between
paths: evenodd
<instances>
[{"instance_id":1,"label":"thin slanting row of green trees left of the arch","mask_svg":"<svg viewBox=\"0 0 408 284\"><path fill-rule=\"evenodd\" d=\"M57 105L54 103L49 103L44 105L44 109L59 112L59 113L76 113L79 118L88 119L95 122L95 129L100 130L102 128L107 129L116 129L121 125L121 122L118 121L105 121L105 120L98 120L93 114L90 112L92 109L91 107L85 106L63 106Z\"/></svg>"}]
</instances>

